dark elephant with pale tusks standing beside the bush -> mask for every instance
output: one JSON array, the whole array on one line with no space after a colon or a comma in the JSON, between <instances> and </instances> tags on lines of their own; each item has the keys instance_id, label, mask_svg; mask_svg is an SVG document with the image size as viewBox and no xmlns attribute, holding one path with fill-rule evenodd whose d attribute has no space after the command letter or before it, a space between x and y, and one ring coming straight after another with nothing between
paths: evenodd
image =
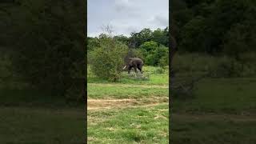
<instances>
[{"instance_id":1,"label":"dark elephant with pale tusks standing beside the bush","mask_svg":"<svg viewBox=\"0 0 256 144\"><path fill-rule=\"evenodd\" d=\"M128 61L126 62L126 66L123 67L123 70L128 69L128 74L130 74L130 70L134 67L135 73L137 73L138 70L143 73L142 71L143 61L140 58L128 58Z\"/></svg>"}]
</instances>

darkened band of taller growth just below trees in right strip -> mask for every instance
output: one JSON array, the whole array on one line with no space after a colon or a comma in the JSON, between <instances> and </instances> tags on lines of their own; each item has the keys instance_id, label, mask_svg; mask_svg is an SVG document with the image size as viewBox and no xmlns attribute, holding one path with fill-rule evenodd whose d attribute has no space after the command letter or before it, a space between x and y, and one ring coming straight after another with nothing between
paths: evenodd
<instances>
[{"instance_id":1,"label":"darkened band of taller growth just below trees in right strip","mask_svg":"<svg viewBox=\"0 0 256 144\"><path fill-rule=\"evenodd\" d=\"M210 74L212 78L249 77L256 74L255 54L242 54L240 61L228 56L177 54L174 70L178 74L195 76Z\"/></svg>"}]
</instances>

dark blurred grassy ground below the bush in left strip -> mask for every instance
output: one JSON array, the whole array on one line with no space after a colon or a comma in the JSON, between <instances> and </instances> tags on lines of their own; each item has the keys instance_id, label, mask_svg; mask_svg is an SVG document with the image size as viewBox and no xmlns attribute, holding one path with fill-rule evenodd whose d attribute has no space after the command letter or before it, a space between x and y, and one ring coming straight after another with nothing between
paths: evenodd
<instances>
[{"instance_id":1,"label":"dark blurred grassy ground below the bush in left strip","mask_svg":"<svg viewBox=\"0 0 256 144\"><path fill-rule=\"evenodd\" d=\"M0 143L84 143L84 106L35 90L0 90Z\"/></svg>"}]
</instances>

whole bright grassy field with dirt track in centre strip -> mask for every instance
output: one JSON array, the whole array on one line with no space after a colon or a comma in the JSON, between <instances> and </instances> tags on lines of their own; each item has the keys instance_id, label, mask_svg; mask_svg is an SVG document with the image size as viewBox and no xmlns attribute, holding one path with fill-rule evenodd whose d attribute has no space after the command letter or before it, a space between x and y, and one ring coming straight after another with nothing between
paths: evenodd
<instances>
[{"instance_id":1,"label":"whole bright grassy field with dirt track in centre strip","mask_svg":"<svg viewBox=\"0 0 256 144\"><path fill-rule=\"evenodd\" d=\"M168 68L145 66L146 79L123 72L119 82L88 70L88 143L168 143Z\"/></svg>"}]
</instances>

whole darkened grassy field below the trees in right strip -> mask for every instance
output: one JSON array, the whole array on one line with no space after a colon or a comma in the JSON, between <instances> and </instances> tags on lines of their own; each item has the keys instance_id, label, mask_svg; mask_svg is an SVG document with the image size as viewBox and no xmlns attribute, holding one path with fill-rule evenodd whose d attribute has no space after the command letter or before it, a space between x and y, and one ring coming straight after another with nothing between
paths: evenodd
<instances>
[{"instance_id":1,"label":"whole darkened grassy field below the trees in right strip","mask_svg":"<svg viewBox=\"0 0 256 144\"><path fill-rule=\"evenodd\" d=\"M240 75L238 78L234 75L227 77L232 62L226 56L175 55L174 82L198 78L208 72L215 76L203 78L195 84L194 98L176 95L172 99L171 143L256 143L254 62L246 63L244 71L233 70Z\"/></svg>"}]
</instances>

